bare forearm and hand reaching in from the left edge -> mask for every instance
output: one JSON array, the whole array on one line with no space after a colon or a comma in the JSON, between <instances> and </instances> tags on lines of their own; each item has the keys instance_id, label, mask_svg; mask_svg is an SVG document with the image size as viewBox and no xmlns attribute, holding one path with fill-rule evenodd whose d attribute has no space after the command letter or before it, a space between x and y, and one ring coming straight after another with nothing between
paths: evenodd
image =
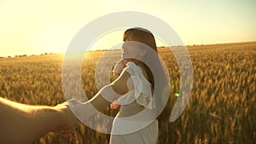
<instances>
[{"instance_id":1,"label":"bare forearm and hand reaching in from the left edge","mask_svg":"<svg viewBox=\"0 0 256 144\"><path fill-rule=\"evenodd\" d=\"M28 106L0 97L0 140L3 144L32 143L54 130L77 123L67 104L56 107Z\"/></svg>"}]
</instances>

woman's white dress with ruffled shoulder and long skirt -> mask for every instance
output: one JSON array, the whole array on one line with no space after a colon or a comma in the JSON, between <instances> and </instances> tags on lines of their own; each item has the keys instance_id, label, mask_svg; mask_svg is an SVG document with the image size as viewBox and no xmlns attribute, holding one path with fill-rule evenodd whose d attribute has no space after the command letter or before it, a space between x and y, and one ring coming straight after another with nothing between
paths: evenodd
<instances>
[{"instance_id":1,"label":"woman's white dress with ruffled shoulder and long skirt","mask_svg":"<svg viewBox=\"0 0 256 144\"><path fill-rule=\"evenodd\" d=\"M113 130L110 137L110 144L155 144L158 137L158 121L150 119L154 113L150 110L155 108L155 102L152 98L151 84L143 76L142 69L128 62L124 72L131 74L131 84L128 83L130 91L119 97L118 103L121 105L119 114L113 121ZM138 112L148 110L146 116L149 118L148 124L141 124L137 119L128 121L128 123L119 122L119 118L127 118L137 114ZM147 119L147 118L146 118ZM121 119L122 120L122 119ZM147 120L146 120L147 121ZM131 123L130 123L131 122ZM137 129L134 129L137 128ZM118 135L119 132L123 135ZM131 131L131 133L129 132ZM127 133L127 134L124 134Z\"/></svg>"}]
</instances>

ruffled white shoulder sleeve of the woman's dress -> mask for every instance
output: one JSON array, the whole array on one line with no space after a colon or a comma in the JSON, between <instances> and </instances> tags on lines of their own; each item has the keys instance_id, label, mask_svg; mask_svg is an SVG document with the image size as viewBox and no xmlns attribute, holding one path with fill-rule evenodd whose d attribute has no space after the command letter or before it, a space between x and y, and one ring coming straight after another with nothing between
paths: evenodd
<instances>
[{"instance_id":1,"label":"ruffled white shoulder sleeve of the woman's dress","mask_svg":"<svg viewBox=\"0 0 256 144\"><path fill-rule=\"evenodd\" d=\"M127 67L125 67L124 71L131 74L132 86L128 83L130 91L119 97L119 105L130 104L132 101L136 100L137 103L143 107L149 109L155 108L151 84L148 82L148 79L144 77L141 67L133 62L128 62L126 65Z\"/></svg>"}]
</instances>

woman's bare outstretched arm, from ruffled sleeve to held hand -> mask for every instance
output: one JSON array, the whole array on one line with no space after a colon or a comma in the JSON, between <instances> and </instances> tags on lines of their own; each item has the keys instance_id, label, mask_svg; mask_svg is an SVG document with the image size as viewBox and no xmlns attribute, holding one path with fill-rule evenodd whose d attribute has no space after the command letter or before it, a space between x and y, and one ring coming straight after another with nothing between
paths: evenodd
<instances>
[{"instance_id":1,"label":"woman's bare outstretched arm, from ruffled sleeve to held hand","mask_svg":"<svg viewBox=\"0 0 256 144\"><path fill-rule=\"evenodd\" d=\"M67 101L69 107L79 120L84 123L90 116L106 110L110 103L118 99L120 95L125 95L129 91L128 83L131 83L130 78L130 73L124 71L113 83L104 86L90 101L81 103L76 100L70 100Z\"/></svg>"}]
</instances>

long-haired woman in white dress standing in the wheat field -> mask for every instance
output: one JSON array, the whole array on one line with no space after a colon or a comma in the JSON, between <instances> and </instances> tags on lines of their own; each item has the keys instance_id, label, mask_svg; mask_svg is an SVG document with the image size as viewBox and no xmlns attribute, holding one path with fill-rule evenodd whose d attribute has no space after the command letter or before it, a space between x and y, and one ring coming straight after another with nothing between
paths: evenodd
<instances>
[{"instance_id":1,"label":"long-haired woman in white dress standing in the wheat field","mask_svg":"<svg viewBox=\"0 0 256 144\"><path fill-rule=\"evenodd\" d=\"M156 143L159 120L167 120L170 114L165 108L168 78L151 32L131 28L125 31L123 41L123 60L114 68L117 77L113 83L103 87L90 101L68 103L84 124L96 115L94 107L102 112L111 102L111 108L120 105L110 143Z\"/></svg>"}]
</instances>

